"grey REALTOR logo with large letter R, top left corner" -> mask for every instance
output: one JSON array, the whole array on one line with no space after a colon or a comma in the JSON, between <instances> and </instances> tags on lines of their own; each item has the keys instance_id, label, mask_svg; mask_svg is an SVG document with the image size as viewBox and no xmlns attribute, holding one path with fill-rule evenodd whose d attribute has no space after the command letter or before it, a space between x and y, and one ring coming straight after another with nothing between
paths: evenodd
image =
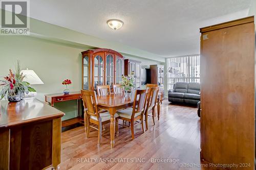
<instances>
[{"instance_id":1,"label":"grey REALTOR logo with large letter R, top left corner","mask_svg":"<svg viewBox=\"0 0 256 170\"><path fill-rule=\"evenodd\" d=\"M29 35L29 2L1 1L1 35Z\"/></svg>"}]
</instances>

